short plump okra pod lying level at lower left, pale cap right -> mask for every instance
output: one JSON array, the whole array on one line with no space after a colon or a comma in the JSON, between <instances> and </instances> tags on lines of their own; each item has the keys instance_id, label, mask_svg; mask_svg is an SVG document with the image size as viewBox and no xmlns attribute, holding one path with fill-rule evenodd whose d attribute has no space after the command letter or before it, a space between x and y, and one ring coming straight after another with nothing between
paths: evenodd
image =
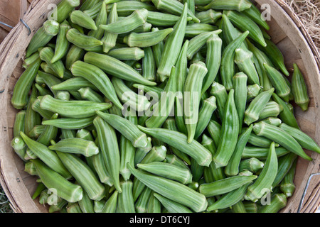
<instances>
[{"instance_id":1,"label":"short plump okra pod lying level at lower left, pale cap right","mask_svg":"<svg viewBox=\"0 0 320 227\"><path fill-rule=\"evenodd\" d=\"M93 141L80 138L67 138L58 141L48 147L50 150L58 150L62 153L73 153L90 157L99 153L99 148Z\"/></svg>"}]
</instances>

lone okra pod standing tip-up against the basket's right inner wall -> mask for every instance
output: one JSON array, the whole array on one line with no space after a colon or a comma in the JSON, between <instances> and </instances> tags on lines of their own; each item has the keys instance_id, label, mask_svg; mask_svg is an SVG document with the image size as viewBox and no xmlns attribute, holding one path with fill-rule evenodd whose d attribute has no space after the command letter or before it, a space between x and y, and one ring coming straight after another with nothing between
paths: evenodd
<instances>
[{"instance_id":1,"label":"lone okra pod standing tip-up against the basket's right inner wall","mask_svg":"<svg viewBox=\"0 0 320 227\"><path fill-rule=\"evenodd\" d=\"M294 95L294 102L300 106L302 111L307 111L310 103L308 90L306 88L306 82L304 76L299 70L299 67L294 63L294 73L292 74L292 94Z\"/></svg>"}]
</instances>

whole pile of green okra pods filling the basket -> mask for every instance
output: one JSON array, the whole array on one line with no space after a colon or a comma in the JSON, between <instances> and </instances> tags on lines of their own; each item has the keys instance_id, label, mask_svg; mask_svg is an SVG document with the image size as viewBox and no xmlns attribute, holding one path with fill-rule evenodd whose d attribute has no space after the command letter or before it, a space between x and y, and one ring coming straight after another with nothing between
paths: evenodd
<instances>
[{"instance_id":1,"label":"whole pile of green okra pods filling the basket","mask_svg":"<svg viewBox=\"0 0 320 227\"><path fill-rule=\"evenodd\" d=\"M60 1L26 49L12 147L49 212L278 212L309 96L247 0Z\"/></svg>"}]
</instances>

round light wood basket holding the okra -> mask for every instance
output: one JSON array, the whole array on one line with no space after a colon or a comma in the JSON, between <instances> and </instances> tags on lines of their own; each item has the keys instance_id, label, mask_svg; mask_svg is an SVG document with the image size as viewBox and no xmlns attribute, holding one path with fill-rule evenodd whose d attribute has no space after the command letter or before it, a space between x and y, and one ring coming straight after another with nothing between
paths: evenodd
<instances>
[{"instance_id":1,"label":"round light wood basket holding the okra","mask_svg":"<svg viewBox=\"0 0 320 227\"><path fill-rule=\"evenodd\" d=\"M1 35L6 36L0 45L0 182L15 212L48 212L45 206L31 199L30 195L36 189L36 178L24 172L23 162L11 148L14 118L17 111L11 106L10 100L14 84L23 72L21 65L26 47L33 34L46 21L46 16L51 10L48 9L48 5L58 4L59 0L33 0L28 9L26 0L4 1L18 4L22 20L9 34L3 28L0 30ZM295 116L302 131L320 144L319 52L302 22L284 1L256 0L255 3L258 6L262 4L270 6L271 20L268 23L271 29L268 33L273 42L282 50L288 70L292 72L292 63L296 62L304 74L311 103L306 112L295 107ZM313 213L319 207L320 177L314 174L320 172L320 155L310 153L308 150L306 153L314 160L308 162L299 158L294 178L297 188L294 195L288 199L287 207L281 212Z\"/></svg>"}]
</instances>

